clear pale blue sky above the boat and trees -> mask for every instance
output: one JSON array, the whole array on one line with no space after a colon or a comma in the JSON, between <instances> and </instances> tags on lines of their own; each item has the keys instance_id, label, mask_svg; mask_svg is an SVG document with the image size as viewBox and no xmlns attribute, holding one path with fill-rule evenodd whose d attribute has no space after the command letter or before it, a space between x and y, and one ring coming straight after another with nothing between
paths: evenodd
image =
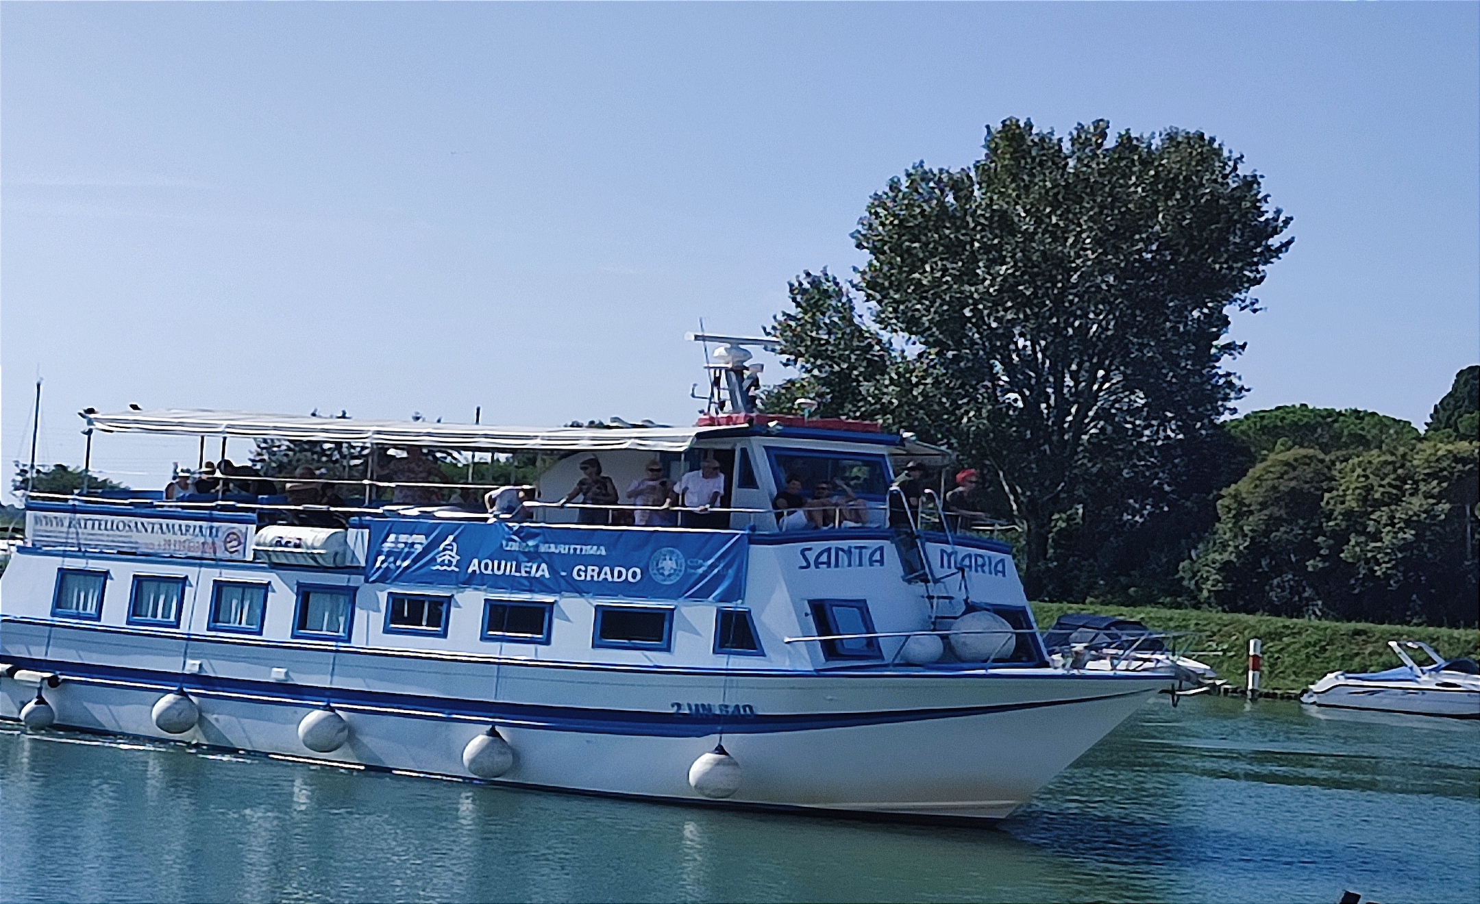
<instances>
[{"instance_id":1,"label":"clear pale blue sky above the boat and trees","mask_svg":"<svg viewBox=\"0 0 1480 904\"><path fill-rule=\"evenodd\" d=\"M1422 423L1480 357L1480 6L83 4L0 9L3 456L77 410L685 423L700 351L870 192L983 126L1166 126L1296 238L1243 410ZM780 374L771 374L780 376ZM246 457L244 448L235 450ZM104 438L161 484L194 444Z\"/></svg>"}]
</instances>

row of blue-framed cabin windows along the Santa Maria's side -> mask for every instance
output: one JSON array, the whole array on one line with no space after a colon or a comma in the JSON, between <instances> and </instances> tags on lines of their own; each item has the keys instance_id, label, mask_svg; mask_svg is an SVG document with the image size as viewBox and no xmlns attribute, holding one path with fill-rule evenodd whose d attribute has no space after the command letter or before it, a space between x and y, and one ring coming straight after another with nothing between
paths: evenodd
<instances>
[{"instance_id":1,"label":"row of blue-framed cabin windows along the Santa Maria's side","mask_svg":"<svg viewBox=\"0 0 1480 904\"><path fill-rule=\"evenodd\" d=\"M107 571L58 570L52 614L64 618L101 618L107 581ZM184 577L135 576L129 624L179 627L184 598ZM348 641L354 599L354 587L299 584L293 636ZM260 635L266 601L268 584L218 580L212 584L206 626L210 630ZM863 605L861 601L858 604ZM549 644L554 613L552 602L485 599L482 639ZM450 596L391 593L386 599L385 632L445 638L450 614ZM867 620L867 610L863 617ZM592 647L666 652L672 642L673 610L669 607L596 607ZM749 610L718 610L713 650L716 654L765 655Z\"/></svg>"}]
</instances>

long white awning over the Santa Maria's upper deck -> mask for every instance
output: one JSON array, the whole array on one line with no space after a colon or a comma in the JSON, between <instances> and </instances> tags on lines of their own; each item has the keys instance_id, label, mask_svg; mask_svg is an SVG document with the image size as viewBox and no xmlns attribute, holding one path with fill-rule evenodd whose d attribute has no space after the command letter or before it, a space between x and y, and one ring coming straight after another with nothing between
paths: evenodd
<instances>
[{"instance_id":1,"label":"long white awning over the Santa Maria's upper deck","mask_svg":"<svg viewBox=\"0 0 1480 904\"><path fill-rule=\"evenodd\" d=\"M158 436L232 436L272 438L306 442L354 442L376 445L426 445L463 450L546 450L546 451L667 451L681 453L699 439L741 436L753 428L719 426L613 426L613 428L511 428L471 423L432 423L426 420L367 420L360 417L314 417L305 414L259 414L253 411L210 411L198 408L161 408L155 411L84 411L87 426L104 434L154 434ZM811 438L823 431L810 431ZM838 439L848 441L842 434ZM904 454L929 456L944 450L898 436L872 434L869 442L897 445Z\"/></svg>"}]
</instances>

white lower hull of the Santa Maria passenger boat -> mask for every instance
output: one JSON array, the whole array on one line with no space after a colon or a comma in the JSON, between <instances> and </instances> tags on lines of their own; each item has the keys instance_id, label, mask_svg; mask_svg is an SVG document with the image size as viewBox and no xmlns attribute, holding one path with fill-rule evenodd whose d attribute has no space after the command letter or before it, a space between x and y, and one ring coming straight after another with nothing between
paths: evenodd
<instances>
[{"instance_id":1,"label":"white lower hull of the Santa Maria passenger boat","mask_svg":"<svg viewBox=\"0 0 1480 904\"><path fill-rule=\"evenodd\" d=\"M16 642L38 626L12 623L6 630ZM56 635L65 633L73 632L53 629L53 652ZM160 667L166 658L179 663L179 652L163 647L130 657L130 669L24 664L61 675L43 692L64 728L474 780L463 749L496 723L517 756L497 783L703 803L712 802L690 787L688 768L721 740L724 721L690 701L715 707L728 698L746 701L749 713L724 725L724 746L743 771L740 790L724 803L972 820L1011 814L1171 682L1166 675L1024 669L725 676L340 652L330 689L229 678L228 650L201 641L192 650L192 657L207 657L207 673ZM271 654L283 660L283 651ZM303 675L318 670L309 655L324 657L300 655L302 664L292 667ZM246 670L237 663L237 672ZM403 692L376 688L377 676L388 675ZM201 716L195 728L172 735L155 726L151 709L181 682ZM416 692L406 694L407 687ZM454 698L453 687L463 694L481 688L482 697ZM599 706L591 703L596 689ZM0 681L0 716L18 718L34 695L36 684ZM349 723L349 740L314 753L297 726L326 700ZM921 700L937 709L922 712Z\"/></svg>"}]
</instances>

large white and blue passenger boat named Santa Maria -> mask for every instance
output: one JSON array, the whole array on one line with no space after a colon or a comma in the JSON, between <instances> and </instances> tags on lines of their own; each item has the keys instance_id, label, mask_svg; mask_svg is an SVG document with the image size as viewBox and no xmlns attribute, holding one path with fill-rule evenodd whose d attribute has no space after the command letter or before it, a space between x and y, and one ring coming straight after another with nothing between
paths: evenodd
<instances>
[{"instance_id":1,"label":"large white and blue passenger boat named Santa Maria","mask_svg":"<svg viewBox=\"0 0 1480 904\"><path fill-rule=\"evenodd\" d=\"M379 500L397 482L374 454L339 481L354 502L327 509L33 494L0 581L0 718L511 786L990 821L1175 682L1144 663L1055 667L1011 547L891 497L891 456L940 450L758 413L746 342L770 340L727 339L682 428L86 411L99 436L537 451L546 468L508 519ZM702 527L561 505L591 456L619 487L654 460L678 476L713 457L724 496L685 510ZM778 530L771 500L793 472L845 481L866 522ZM303 524L329 516L343 525Z\"/></svg>"}]
</instances>

